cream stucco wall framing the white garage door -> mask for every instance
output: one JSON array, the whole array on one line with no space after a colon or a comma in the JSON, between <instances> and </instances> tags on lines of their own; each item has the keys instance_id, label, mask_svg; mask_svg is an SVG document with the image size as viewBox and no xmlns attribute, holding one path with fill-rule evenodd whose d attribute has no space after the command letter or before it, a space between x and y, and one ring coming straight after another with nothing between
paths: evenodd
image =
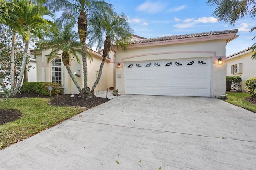
<instances>
[{"instance_id":1,"label":"cream stucco wall framing the white garage door","mask_svg":"<svg viewBox=\"0 0 256 170\"><path fill-rule=\"evenodd\" d=\"M149 45L148 45L149 46ZM116 89L124 94L124 62L128 61L148 61L163 59L180 59L194 57L211 57L211 97L224 95L226 92L226 40L200 41L192 43L177 43L170 45L159 45L132 48L132 45L126 52L116 50L116 64L120 63L121 67L116 68ZM222 58L224 64L218 65L218 58ZM117 78L117 75L121 78Z\"/></svg>"}]
</instances>

